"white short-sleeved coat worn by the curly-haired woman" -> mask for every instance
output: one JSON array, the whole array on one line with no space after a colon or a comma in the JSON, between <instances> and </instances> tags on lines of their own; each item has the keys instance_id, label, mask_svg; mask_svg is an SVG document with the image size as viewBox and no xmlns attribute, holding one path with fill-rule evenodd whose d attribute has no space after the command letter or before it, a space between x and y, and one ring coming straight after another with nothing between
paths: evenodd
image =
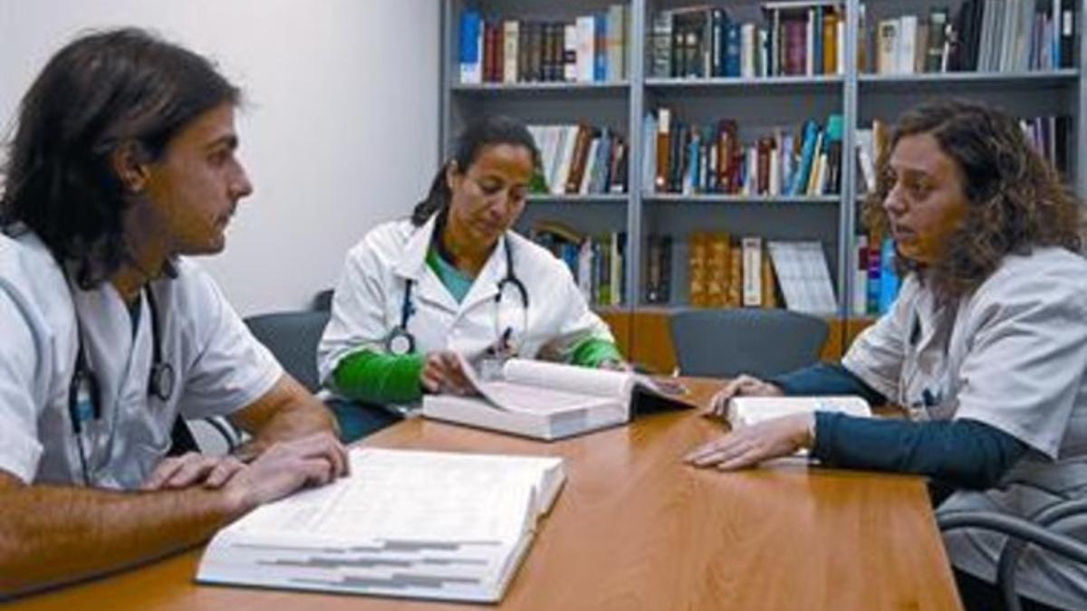
<instances>
[{"instance_id":1,"label":"white short-sleeved coat worn by the curly-haired woman","mask_svg":"<svg viewBox=\"0 0 1087 611\"><path fill-rule=\"evenodd\" d=\"M842 364L915 420L971 419L1029 446L1001 486L957 492L939 511L1029 515L1057 499L1042 488L1087 495L1087 261L1080 255L1057 248L1009 255L972 295L944 304L910 276L894 309L858 338ZM1087 538L1087 528L1073 529ZM1002 537L953 531L945 543L955 566L994 581ZM1021 594L1087 608L1083 566L1030 551L1017 577Z\"/></svg>"}]
</instances>

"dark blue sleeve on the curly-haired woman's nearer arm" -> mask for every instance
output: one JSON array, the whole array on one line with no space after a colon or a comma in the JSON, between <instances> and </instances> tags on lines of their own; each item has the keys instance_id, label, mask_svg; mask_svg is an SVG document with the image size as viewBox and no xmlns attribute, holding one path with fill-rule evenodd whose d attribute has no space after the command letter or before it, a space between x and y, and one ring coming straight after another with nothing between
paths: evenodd
<instances>
[{"instance_id":1,"label":"dark blue sleeve on the curly-haired woman's nearer arm","mask_svg":"<svg viewBox=\"0 0 1087 611\"><path fill-rule=\"evenodd\" d=\"M996 486L1027 451L974 420L911 422L815 413L812 456L828 466L927 475L961 488Z\"/></svg>"}]
</instances>

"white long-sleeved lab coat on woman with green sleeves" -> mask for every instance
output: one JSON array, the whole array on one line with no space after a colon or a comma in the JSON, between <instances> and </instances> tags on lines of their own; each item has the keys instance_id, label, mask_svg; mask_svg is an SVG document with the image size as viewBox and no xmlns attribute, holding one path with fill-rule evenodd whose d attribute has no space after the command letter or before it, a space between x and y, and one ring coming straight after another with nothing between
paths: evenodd
<instances>
[{"instance_id":1,"label":"white long-sleeved lab coat on woman with green sleeves","mask_svg":"<svg viewBox=\"0 0 1087 611\"><path fill-rule=\"evenodd\" d=\"M458 303L426 263L434 226L433 216L420 227L408 220L385 223L348 252L333 298L332 320L317 351L324 384L332 385L332 375L345 357L360 350L387 351L386 339L400 324L409 278L414 280L414 313L408 331L415 337L418 353L452 350L476 359L495 345L499 327L512 327L513 345L522 358L535 358L546 347L549 356L564 360L586 338L614 341L566 265L514 232L499 240ZM501 301L495 301L498 283L505 276L507 244L513 251L514 274L528 291L527 310L510 286Z\"/></svg>"}]
</instances>

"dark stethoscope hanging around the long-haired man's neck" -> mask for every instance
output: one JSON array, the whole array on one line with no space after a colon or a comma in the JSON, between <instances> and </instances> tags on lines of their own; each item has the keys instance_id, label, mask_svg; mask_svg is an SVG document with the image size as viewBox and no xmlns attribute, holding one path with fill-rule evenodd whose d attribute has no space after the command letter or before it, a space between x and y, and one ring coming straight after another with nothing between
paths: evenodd
<instances>
[{"instance_id":1,"label":"dark stethoscope hanging around the long-haired man's neck","mask_svg":"<svg viewBox=\"0 0 1087 611\"><path fill-rule=\"evenodd\" d=\"M159 306L154 299L151 287L143 287L143 295L147 297L148 310L151 312L151 372L147 381L147 394L149 397L167 401L174 394L174 383L176 373L162 356L162 338L159 329ZM72 432L75 434L76 445L79 449L79 466L83 471L83 479L86 485L90 485L90 469L87 465L87 448L84 447L83 433L85 424L102 417L102 388L98 382L98 376L90 369L87 362L87 353L83 347L83 323L79 321L78 312L75 315L76 324L76 352L75 372L68 383L68 416L72 420Z\"/></svg>"}]
</instances>

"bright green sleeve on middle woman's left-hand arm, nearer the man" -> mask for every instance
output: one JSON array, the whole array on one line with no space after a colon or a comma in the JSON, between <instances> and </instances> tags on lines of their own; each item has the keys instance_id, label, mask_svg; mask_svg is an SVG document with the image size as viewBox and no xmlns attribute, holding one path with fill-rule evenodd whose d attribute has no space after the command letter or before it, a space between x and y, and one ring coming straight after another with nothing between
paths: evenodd
<instances>
[{"instance_id":1,"label":"bright green sleeve on middle woman's left-hand arm, nearer the man","mask_svg":"<svg viewBox=\"0 0 1087 611\"><path fill-rule=\"evenodd\" d=\"M342 361L333 374L336 389L349 399L377 403L409 403L423 396L418 376L423 354L397 357L361 350Z\"/></svg>"}]
</instances>

